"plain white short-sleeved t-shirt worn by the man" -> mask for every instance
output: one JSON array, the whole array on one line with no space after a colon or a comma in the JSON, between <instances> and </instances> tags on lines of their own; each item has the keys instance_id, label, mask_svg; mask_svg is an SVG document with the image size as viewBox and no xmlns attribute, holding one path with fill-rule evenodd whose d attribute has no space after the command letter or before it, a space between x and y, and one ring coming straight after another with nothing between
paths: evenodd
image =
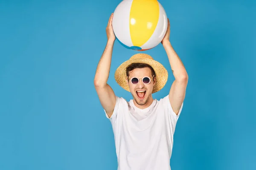
<instances>
[{"instance_id":1,"label":"plain white short-sleeved t-shirt worn by the man","mask_svg":"<svg viewBox=\"0 0 256 170\"><path fill-rule=\"evenodd\" d=\"M111 118L117 170L171 170L173 135L180 116L172 110L169 96L154 99L145 109L116 96Z\"/></svg>"}]
</instances>

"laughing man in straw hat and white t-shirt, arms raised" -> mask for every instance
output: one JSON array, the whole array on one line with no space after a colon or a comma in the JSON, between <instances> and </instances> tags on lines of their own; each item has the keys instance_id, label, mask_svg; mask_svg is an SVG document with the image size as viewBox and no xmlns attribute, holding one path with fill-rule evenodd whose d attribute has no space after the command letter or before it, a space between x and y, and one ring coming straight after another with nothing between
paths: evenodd
<instances>
[{"instance_id":1,"label":"laughing man in straw hat and white t-shirt, arms raised","mask_svg":"<svg viewBox=\"0 0 256 170\"><path fill-rule=\"evenodd\" d=\"M147 54L135 54L115 73L116 82L130 91L127 102L107 84L115 35L113 14L108 21L108 42L97 66L94 85L115 139L118 170L171 170L173 135L183 107L188 74L169 42L170 24L163 41L175 81L163 99L152 98L166 84L168 73Z\"/></svg>"}]
</instances>

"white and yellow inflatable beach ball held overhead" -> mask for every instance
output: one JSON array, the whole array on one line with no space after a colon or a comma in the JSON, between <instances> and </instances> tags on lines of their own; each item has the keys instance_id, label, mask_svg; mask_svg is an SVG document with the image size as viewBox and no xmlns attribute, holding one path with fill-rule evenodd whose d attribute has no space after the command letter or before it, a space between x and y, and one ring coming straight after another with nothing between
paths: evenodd
<instances>
[{"instance_id":1,"label":"white and yellow inflatable beach ball held overhead","mask_svg":"<svg viewBox=\"0 0 256 170\"><path fill-rule=\"evenodd\" d=\"M123 46L144 51L163 40L167 22L166 12L157 0L122 0L114 11L112 26Z\"/></svg>"}]
</instances>

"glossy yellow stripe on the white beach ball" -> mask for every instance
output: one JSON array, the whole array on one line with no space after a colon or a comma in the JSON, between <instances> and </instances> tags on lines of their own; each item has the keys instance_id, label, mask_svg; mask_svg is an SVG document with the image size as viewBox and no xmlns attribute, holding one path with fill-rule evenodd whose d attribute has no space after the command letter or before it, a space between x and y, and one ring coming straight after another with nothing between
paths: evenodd
<instances>
[{"instance_id":1,"label":"glossy yellow stripe on the white beach ball","mask_svg":"<svg viewBox=\"0 0 256 170\"><path fill-rule=\"evenodd\" d=\"M130 11L130 35L134 46L140 47L153 34L159 18L157 0L133 0Z\"/></svg>"}]
</instances>

